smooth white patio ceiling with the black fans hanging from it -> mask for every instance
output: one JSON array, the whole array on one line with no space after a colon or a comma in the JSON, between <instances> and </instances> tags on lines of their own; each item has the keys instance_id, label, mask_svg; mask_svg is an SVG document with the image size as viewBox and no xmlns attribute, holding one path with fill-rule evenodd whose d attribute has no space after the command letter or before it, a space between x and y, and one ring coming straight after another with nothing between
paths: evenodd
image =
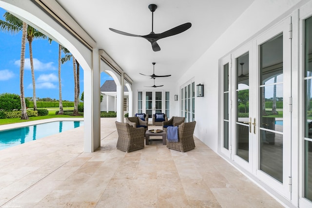
<instances>
[{"instance_id":1,"label":"smooth white patio ceiling with the black fans hanging from it","mask_svg":"<svg viewBox=\"0 0 312 208\"><path fill-rule=\"evenodd\" d=\"M64 10L134 81L149 79L139 73L172 76L157 78L174 81L190 68L215 40L248 8L254 0L57 0ZM161 50L154 52L144 38L123 36L114 28L136 35L152 31L162 33L180 24L192 27L176 36L157 41ZM152 80L150 81L153 85ZM156 84L157 85L157 84Z\"/></svg>"}]
</instances>

